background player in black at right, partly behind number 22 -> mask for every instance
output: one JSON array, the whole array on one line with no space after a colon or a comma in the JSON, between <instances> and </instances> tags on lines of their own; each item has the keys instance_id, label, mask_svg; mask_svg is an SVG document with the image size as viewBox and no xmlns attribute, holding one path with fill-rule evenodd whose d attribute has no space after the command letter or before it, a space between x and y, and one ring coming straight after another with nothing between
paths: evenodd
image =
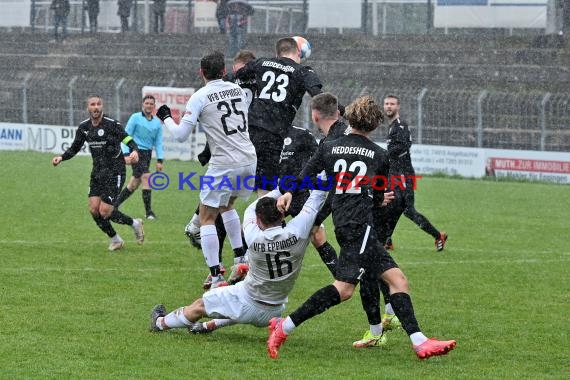
<instances>
[{"instance_id":1,"label":"background player in black at right, partly behind number 22","mask_svg":"<svg viewBox=\"0 0 570 380\"><path fill-rule=\"evenodd\" d=\"M388 95L384 98L384 113L390 121L388 133L388 157L390 159L390 179L393 180L391 188L395 191L395 200L378 217L383 223L377 223L383 230L380 238L385 242L387 249L393 249L392 233L400 216L404 214L408 219L417 224L426 233L435 239L437 251L443 251L447 241L447 234L437 230L430 221L420 214L414 207L414 167L410 156L412 136L408 123L400 118L400 99L396 95ZM394 181L394 178L399 180Z\"/></svg>"}]
</instances>

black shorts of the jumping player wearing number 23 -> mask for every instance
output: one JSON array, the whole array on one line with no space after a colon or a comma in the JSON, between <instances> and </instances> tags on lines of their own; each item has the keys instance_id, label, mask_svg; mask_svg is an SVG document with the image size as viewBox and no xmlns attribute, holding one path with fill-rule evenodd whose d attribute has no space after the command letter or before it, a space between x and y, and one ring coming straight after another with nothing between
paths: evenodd
<instances>
[{"instance_id":1,"label":"black shorts of the jumping player wearing number 23","mask_svg":"<svg viewBox=\"0 0 570 380\"><path fill-rule=\"evenodd\" d=\"M283 138L258 127L250 127L249 137L257 155L255 187L271 191L277 187Z\"/></svg>"}]
</instances>

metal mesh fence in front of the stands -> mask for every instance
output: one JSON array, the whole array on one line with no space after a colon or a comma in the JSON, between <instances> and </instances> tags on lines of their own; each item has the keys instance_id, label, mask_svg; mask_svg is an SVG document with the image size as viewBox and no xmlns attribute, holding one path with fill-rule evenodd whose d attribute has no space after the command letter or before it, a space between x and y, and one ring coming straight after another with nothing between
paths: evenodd
<instances>
[{"instance_id":1,"label":"metal mesh fence in front of the stands","mask_svg":"<svg viewBox=\"0 0 570 380\"><path fill-rule=\"evenodd\" d=\"M0 72L1 73L1 72ZM145 85L176 86L174 80L135 81L82 76L27 75L19 81L0 74L0 120L15 123L75 126L88 117L87 95L97 93L105 112L125 122L140 108ZM387 94L401 99L401 116L416 143L484 148L570 151L570 94L443 91L437 89L330 87L348 104L362 94L382 101ZM295 124L313 129L303 101ZM316 131L315 131L316 132ZM383 140L385 131L374 139Z\"/></svg>"}]
</instances>

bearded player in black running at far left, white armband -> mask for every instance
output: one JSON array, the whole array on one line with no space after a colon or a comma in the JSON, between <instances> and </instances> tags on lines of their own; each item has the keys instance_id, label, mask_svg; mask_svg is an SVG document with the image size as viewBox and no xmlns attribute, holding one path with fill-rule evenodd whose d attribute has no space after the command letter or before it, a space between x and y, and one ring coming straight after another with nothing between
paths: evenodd
<instances>
[{"instance_id":1,"label":"bearded player in black running at far left, white armband","mask_svg":"<svg viewBox=\"0 0 570 380\"><path fill-rule=\"evenodd\" d=\"M125 159L121 142L131 149L129 160L138 161L138 147L118 121L103 115L103 100L92 95L87 98L89 119L79 124L71 146L61 155L52 159L54 166L74 157L87 142L93 169L89 183L89 212L97 226L111 238L110 251L123 248L125 242L111 225L111 221L126 224L133 228L139 244L144 241L142 219L133 219L113 207L125 182Z\"/></svg>"}]
</instances>

